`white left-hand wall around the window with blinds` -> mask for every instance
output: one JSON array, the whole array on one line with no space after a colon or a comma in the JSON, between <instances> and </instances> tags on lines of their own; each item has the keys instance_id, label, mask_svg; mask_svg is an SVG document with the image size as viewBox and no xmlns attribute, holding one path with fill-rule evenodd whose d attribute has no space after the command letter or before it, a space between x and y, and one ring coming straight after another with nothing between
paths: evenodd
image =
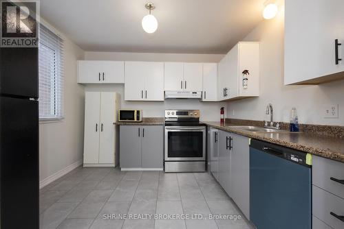
<instances>
[{"instance_id":1,"label":"white left-hand wall around the window with blinds","mask_svg":"<svg viewBox=\"0 0 344 229\"><path fill-rule=\"evenodd\" d=\"M42 21L42 20L41 20ZM39 123L40 180L83 158L83 87L76 84L76 60L84 58L84 51L61 32L45 23L64 39L64 119Z\"/></svg>"}]
</instances>

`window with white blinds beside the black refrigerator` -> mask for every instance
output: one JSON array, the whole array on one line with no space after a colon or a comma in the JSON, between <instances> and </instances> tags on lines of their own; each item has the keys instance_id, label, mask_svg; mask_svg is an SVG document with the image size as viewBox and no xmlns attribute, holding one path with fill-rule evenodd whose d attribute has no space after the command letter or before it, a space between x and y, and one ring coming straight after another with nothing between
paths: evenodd
<instances>
[{"instance_id":1,"label":"window with white blinds beside the black refrigerator","mask_svg":"<svg viewBox=\"0 0 344 229\"><path fill-rule=\"evenodd\" d=\"M63 118L63 40L39 28L39 119Z\"/></svg>"}]
</instances>

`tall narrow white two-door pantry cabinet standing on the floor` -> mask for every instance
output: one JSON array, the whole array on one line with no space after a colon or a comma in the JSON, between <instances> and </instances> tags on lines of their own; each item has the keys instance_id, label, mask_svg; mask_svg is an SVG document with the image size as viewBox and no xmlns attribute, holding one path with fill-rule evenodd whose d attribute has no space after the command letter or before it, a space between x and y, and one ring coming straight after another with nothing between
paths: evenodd
<instances>
[{"instance_id":1,"label":"tall narrow white two-door pantry cabinet standing on the floor","mask_svg":"<svg viewBox=\"0 0 344 229\"><path fill-rule=\"evenodd\" d=\"M120 95L114 92L85 92L84 167L115 167L116 115Z\"/></svg>"}]
</instances>

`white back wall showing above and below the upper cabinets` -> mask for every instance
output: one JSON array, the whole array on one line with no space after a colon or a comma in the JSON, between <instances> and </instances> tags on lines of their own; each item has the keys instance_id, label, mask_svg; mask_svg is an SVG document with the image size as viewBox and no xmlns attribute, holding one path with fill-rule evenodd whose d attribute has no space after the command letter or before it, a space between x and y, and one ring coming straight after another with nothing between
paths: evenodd
<instances>
[{"instance_id":1,"label":"white back wall showing above and below the upper cabinets","mask_svg":"<svg viewBox=\"0 0 344 229\"><path fill-rule=\"evenodd\" d=\"M158 62L219 62L222 54L183 53L118 53L85 52L85 60L131 60ZM144 117L164 117L165 109L199 109L204 121L219 121L219 109L226 103L201 102L198 99L166 99L165 101L124 101L124 85L85 86L87 91L116 91L121 94L121 108L143 110Z\"/></svg>"}]
</instances>

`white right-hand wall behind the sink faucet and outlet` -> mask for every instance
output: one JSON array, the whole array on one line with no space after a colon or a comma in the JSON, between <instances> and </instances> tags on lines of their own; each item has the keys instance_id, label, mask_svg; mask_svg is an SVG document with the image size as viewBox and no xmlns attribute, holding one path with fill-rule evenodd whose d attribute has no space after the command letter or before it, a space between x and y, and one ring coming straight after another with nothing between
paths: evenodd
<instances>
[{"instance_id":1,"label":"white right-hand wall behind the sink faucet and outlet","mask_svg":"<svg viewBox=\"0 0 344 229\"><path fill-rule=\"evenodd\" d=\"M283 86L283 10L261 22L244 40L260 41L260 96L230 101L227 117L264 120L272 103L275 121L289 122L290 109L297 108L299 123L344 125L344 80L319 86ZM339 104L339 119L324 119L324 106ZM233 115L234 112L234 115Z\"/></svg>"}]
</instances>

